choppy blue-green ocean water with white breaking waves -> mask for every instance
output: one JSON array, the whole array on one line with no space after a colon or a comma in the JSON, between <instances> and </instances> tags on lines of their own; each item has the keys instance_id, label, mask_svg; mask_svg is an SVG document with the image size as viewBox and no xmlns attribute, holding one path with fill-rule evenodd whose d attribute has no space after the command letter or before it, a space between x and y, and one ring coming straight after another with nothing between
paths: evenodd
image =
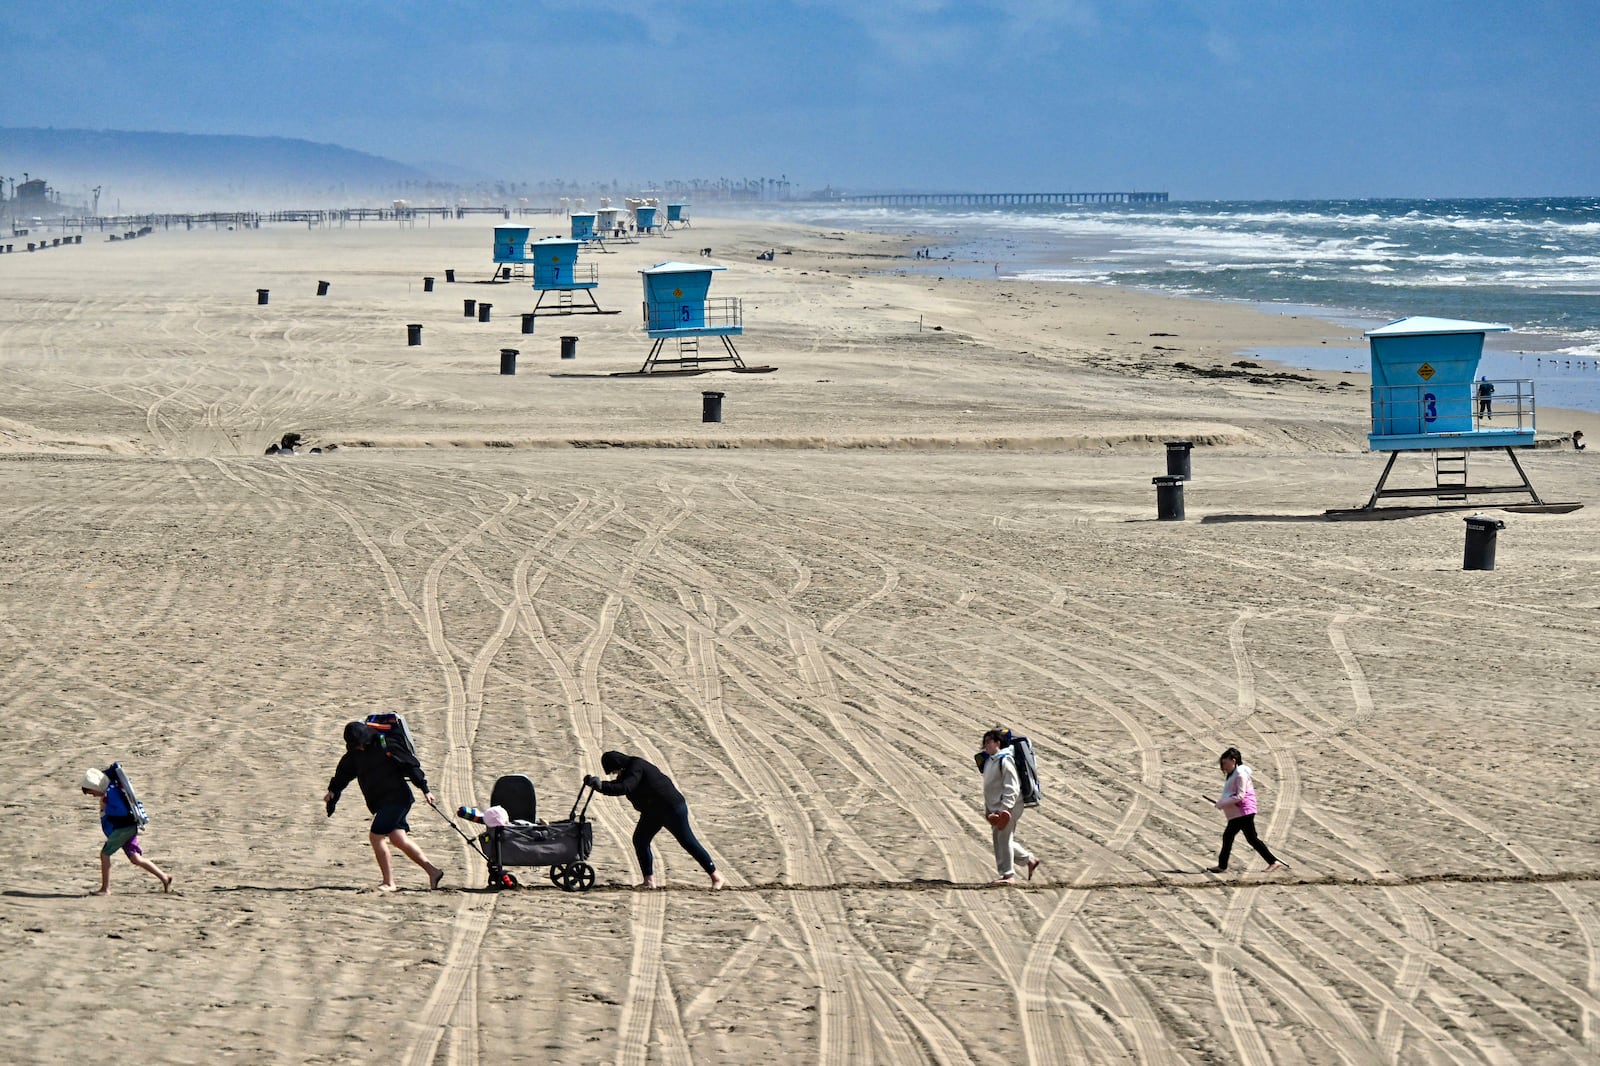
<instances>
[{"instance_id":1,"label":"choppy blue-green ocean water with white breaking waves","mask_svg":"<svg viewBox=\"0 0 1600 1066\"><path fill-rule=\"evenodd\" d=\"M1547 381L1541 405L1600 410L1600 197L802 203L784 218L926 234L934 256L950 256L910 267L928 272L1126 285L1368 328L1405 315L1499 322L1514 331L1488 336L1490 376ZM1326 370L1366 367L1365 349L1258 354Z\"/></svg>"}]
</instances>

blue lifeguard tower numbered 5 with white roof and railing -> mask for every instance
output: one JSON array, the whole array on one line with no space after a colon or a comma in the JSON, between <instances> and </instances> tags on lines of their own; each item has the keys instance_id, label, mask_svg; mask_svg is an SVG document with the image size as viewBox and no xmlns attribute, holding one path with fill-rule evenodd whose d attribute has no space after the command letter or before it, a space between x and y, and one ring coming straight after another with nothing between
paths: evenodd
<instances>
[{"instance_id":1,"label":"blue lifeguard tower numbered 5 with white roof and railing","mask_svg":"<svg viewBox=\"0 0 1600 1066\"><path fill-rule=\"evenodd\" d=\"M744 333L744 309L738 296L710 296L710 275L720 266L658 262L640 271L645 279L645 333L654 341L640 373L699 373L702 370L752 370L739 359L733 338ZM704 336L722 341L723 351L699 349ZM662 359L667 341L677 343L677 359ZM754 370L771 370L770 367Z\"/></svg>"}]
</instances>

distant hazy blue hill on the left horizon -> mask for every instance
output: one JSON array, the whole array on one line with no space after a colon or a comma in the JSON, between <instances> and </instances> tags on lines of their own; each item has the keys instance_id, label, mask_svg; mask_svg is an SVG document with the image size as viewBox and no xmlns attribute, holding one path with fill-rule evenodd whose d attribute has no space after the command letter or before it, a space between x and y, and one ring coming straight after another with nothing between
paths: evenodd
<instances>
[{"instance_id":1,"label":"distant hazy blue hill on the left horizon","mask_svg":"<svg viewBox=\"0 0 1600 1066\"><path fill-rule=\"evenodd\" d=\"M43 178L101 213L326 206L416 195L430 176L381 155L293 138L0 126L0 174ZM10 189L6 189L10 195Z\"/></svg>"}]
</instances>

